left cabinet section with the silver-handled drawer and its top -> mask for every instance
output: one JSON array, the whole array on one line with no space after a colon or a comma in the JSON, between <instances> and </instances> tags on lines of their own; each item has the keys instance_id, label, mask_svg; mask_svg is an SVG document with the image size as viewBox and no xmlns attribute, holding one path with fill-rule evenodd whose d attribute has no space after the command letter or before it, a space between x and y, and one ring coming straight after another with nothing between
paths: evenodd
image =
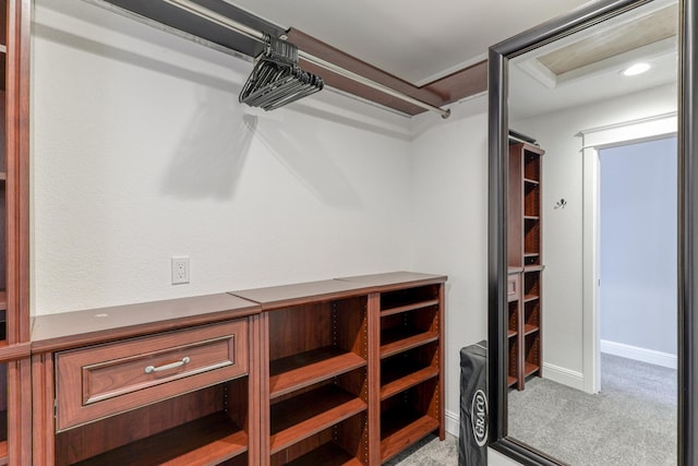
<instances>
[{"instance_id":1,"label":"left cabinet section with the silver-handled drawer and its top","mask_svg":"<svg viewBox=\"0 0 698 466\"><path fill-rule=\"evenodd\" d=\"M34 464L257 464L258 313L219 294L37 316Z\"/></svg>"}]
</instances>

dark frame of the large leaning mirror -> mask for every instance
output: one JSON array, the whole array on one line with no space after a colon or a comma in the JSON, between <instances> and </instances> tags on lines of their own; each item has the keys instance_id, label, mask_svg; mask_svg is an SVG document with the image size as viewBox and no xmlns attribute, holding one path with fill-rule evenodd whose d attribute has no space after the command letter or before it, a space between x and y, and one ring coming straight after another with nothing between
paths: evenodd
<instances>
[{"instance_id":1,"label":"dark frame of the large leaning mirror","mask_svg":"<svg viewBox=\"0 0 698 466\"><path fill-rule=\"evenodd\" d=\"M507 306L507 195L508 186L508 60L555 39L574 34L652 0L603 0L552 20L490 48L489 52L489 359L488 396L490 446L525 465L559 465L545 453L507 437L506 321ZM677 0L678 29L678 338L677 338L677 459L679 466L698 465L696 401L698 386L698 158L695 115L698 96L694 86L698 7Z\"/></svg>"}]
</instances>

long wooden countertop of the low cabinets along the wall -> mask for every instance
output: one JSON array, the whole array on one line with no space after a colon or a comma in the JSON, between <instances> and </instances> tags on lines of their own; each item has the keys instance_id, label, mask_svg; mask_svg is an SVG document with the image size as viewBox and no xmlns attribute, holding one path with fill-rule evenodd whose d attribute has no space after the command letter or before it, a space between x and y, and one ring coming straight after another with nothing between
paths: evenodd
<instances>
[{"instance_id":1,"label":"long wooden countertop of the low cabinets along the wall","mask_svg":"<svg viewBox=\"0 0 698 466\"><path fill-rule=\"evenodd\" d=\"M392 272L37 315L32 320L32 351L69 349L446 279L445 275Z\"/></svg>"}]
</instances>

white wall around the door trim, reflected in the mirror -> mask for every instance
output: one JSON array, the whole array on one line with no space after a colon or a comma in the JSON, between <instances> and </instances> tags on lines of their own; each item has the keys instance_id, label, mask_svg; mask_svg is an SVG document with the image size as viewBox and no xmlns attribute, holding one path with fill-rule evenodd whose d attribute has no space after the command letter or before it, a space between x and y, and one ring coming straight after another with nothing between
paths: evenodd
<instances>
[{"instance_id":1,"label":"white wall around the door trim, reflected in the mirror","mask_svg":"<svg viewBox=\"0 0 698 466\"><path fill-rule=\"evenodd\" d=\"M676 110L676 87L667 85L593 105L517 121L535 138L543 157L543 358L546 377L581 386L582 370L582 158L581 130ZM565 208L554 208L565 199Z\"/></svg>"}]
</instances>

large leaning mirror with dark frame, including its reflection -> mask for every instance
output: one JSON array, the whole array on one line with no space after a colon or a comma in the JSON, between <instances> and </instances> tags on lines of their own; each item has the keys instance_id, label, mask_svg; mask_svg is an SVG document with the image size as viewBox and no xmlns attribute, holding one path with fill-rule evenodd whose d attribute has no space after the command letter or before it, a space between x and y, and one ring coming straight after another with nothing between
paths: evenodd
<instances>
[{"instance_id":1,"label":"large leaning mirror with dark frame, including its reflection","mask_svg":"<svg viewBox=\"0 0 698 466\"><path fill-rule=\"evenodd\" d=\"M524 464L698 464L694 9L490 50L490 441Z\"/></svg>"}]
</instances>

